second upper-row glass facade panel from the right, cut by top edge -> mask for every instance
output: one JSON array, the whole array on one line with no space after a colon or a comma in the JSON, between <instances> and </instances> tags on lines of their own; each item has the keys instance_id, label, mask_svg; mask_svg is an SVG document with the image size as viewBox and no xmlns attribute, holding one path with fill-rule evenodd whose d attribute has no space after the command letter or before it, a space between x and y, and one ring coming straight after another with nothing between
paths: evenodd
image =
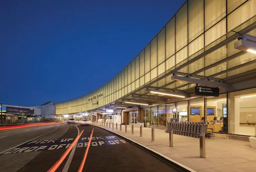
<instances>
[{"instance_id":1,"label":"second upper-row glass facade panel from the right, cut by top edge","mask_svg":"<svg viewBox=\"0 0 256 172\"><path fill-rule=\"evenodd\" d=\"M204 6L204 25L207 30L226 16L226 0L205 0Z\"/></svg>"}]
</instances>

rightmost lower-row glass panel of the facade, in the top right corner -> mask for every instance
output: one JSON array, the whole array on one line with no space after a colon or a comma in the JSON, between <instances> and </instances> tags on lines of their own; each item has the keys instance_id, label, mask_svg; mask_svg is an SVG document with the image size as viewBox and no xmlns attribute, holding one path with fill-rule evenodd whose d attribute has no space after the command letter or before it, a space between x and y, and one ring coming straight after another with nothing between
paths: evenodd
<instances>
[{"instance_id":1,"label":"rightmost lower-row glass panel of the facade, in the top right corner","mask_svg":"<svg viewBox=\"0 0 256 172\"><path fill-rule=\"evenodd\" d=\"M228 15L228 31L256 15L256 0L249 0Z\"/></svg>"}]
</instances>

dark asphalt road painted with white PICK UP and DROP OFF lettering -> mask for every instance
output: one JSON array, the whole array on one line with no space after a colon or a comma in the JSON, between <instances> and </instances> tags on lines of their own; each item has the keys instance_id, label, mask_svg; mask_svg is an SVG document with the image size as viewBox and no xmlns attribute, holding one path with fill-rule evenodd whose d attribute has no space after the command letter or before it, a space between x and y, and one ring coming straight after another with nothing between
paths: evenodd
<instances>
[{"instance_id":1,"label":"dark asphalt road painted with white PICK UP and DROP OFF lettering","mask_svg":"<svg viewBox=\"0 0 256 172\"><path fill-rule=\"evenodd\" d=\"M79 132L84 130L75 148L56 170L77 172L93 128L83 171L179 171L104 129L77 123L0 131L0 171L46 172L60 159Z\"/></svg>"}]
</instances>

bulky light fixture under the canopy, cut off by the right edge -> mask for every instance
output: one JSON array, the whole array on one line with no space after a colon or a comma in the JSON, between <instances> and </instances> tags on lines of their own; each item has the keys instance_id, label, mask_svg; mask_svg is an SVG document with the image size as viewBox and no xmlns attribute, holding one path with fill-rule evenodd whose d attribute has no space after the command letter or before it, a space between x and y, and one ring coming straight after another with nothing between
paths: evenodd
<instances>
[{"instance_id":1,"label":"bulky light fixture under the canopy, cut off by the right edge","mask_svg":"<svg viewBox=\"0 0 256 172\"><path fill-rule=\"evenodd\" d=\"M239 36L238 41L234 43L234 48L256 55L256 37L248 34Z\"/></svg>"}]
</instances>

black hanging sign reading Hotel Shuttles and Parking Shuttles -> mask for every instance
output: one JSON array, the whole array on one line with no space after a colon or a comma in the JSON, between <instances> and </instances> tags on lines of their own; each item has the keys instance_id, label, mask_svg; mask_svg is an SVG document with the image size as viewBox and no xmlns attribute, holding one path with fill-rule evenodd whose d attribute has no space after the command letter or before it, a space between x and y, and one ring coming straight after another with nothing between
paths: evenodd
<instances>
[{"instance_id":1,"label":"black hanging sign reading Hotel Shuttles and Parking Shuttles","mask_svg":"<svg viewBox=\"0 0 256 172\"><path fill-rule=\"evenodd\" d=\"M206 86L195 86L195 95L218 97L219 88L206 87Z\"/></svg>"}]
</instances>

